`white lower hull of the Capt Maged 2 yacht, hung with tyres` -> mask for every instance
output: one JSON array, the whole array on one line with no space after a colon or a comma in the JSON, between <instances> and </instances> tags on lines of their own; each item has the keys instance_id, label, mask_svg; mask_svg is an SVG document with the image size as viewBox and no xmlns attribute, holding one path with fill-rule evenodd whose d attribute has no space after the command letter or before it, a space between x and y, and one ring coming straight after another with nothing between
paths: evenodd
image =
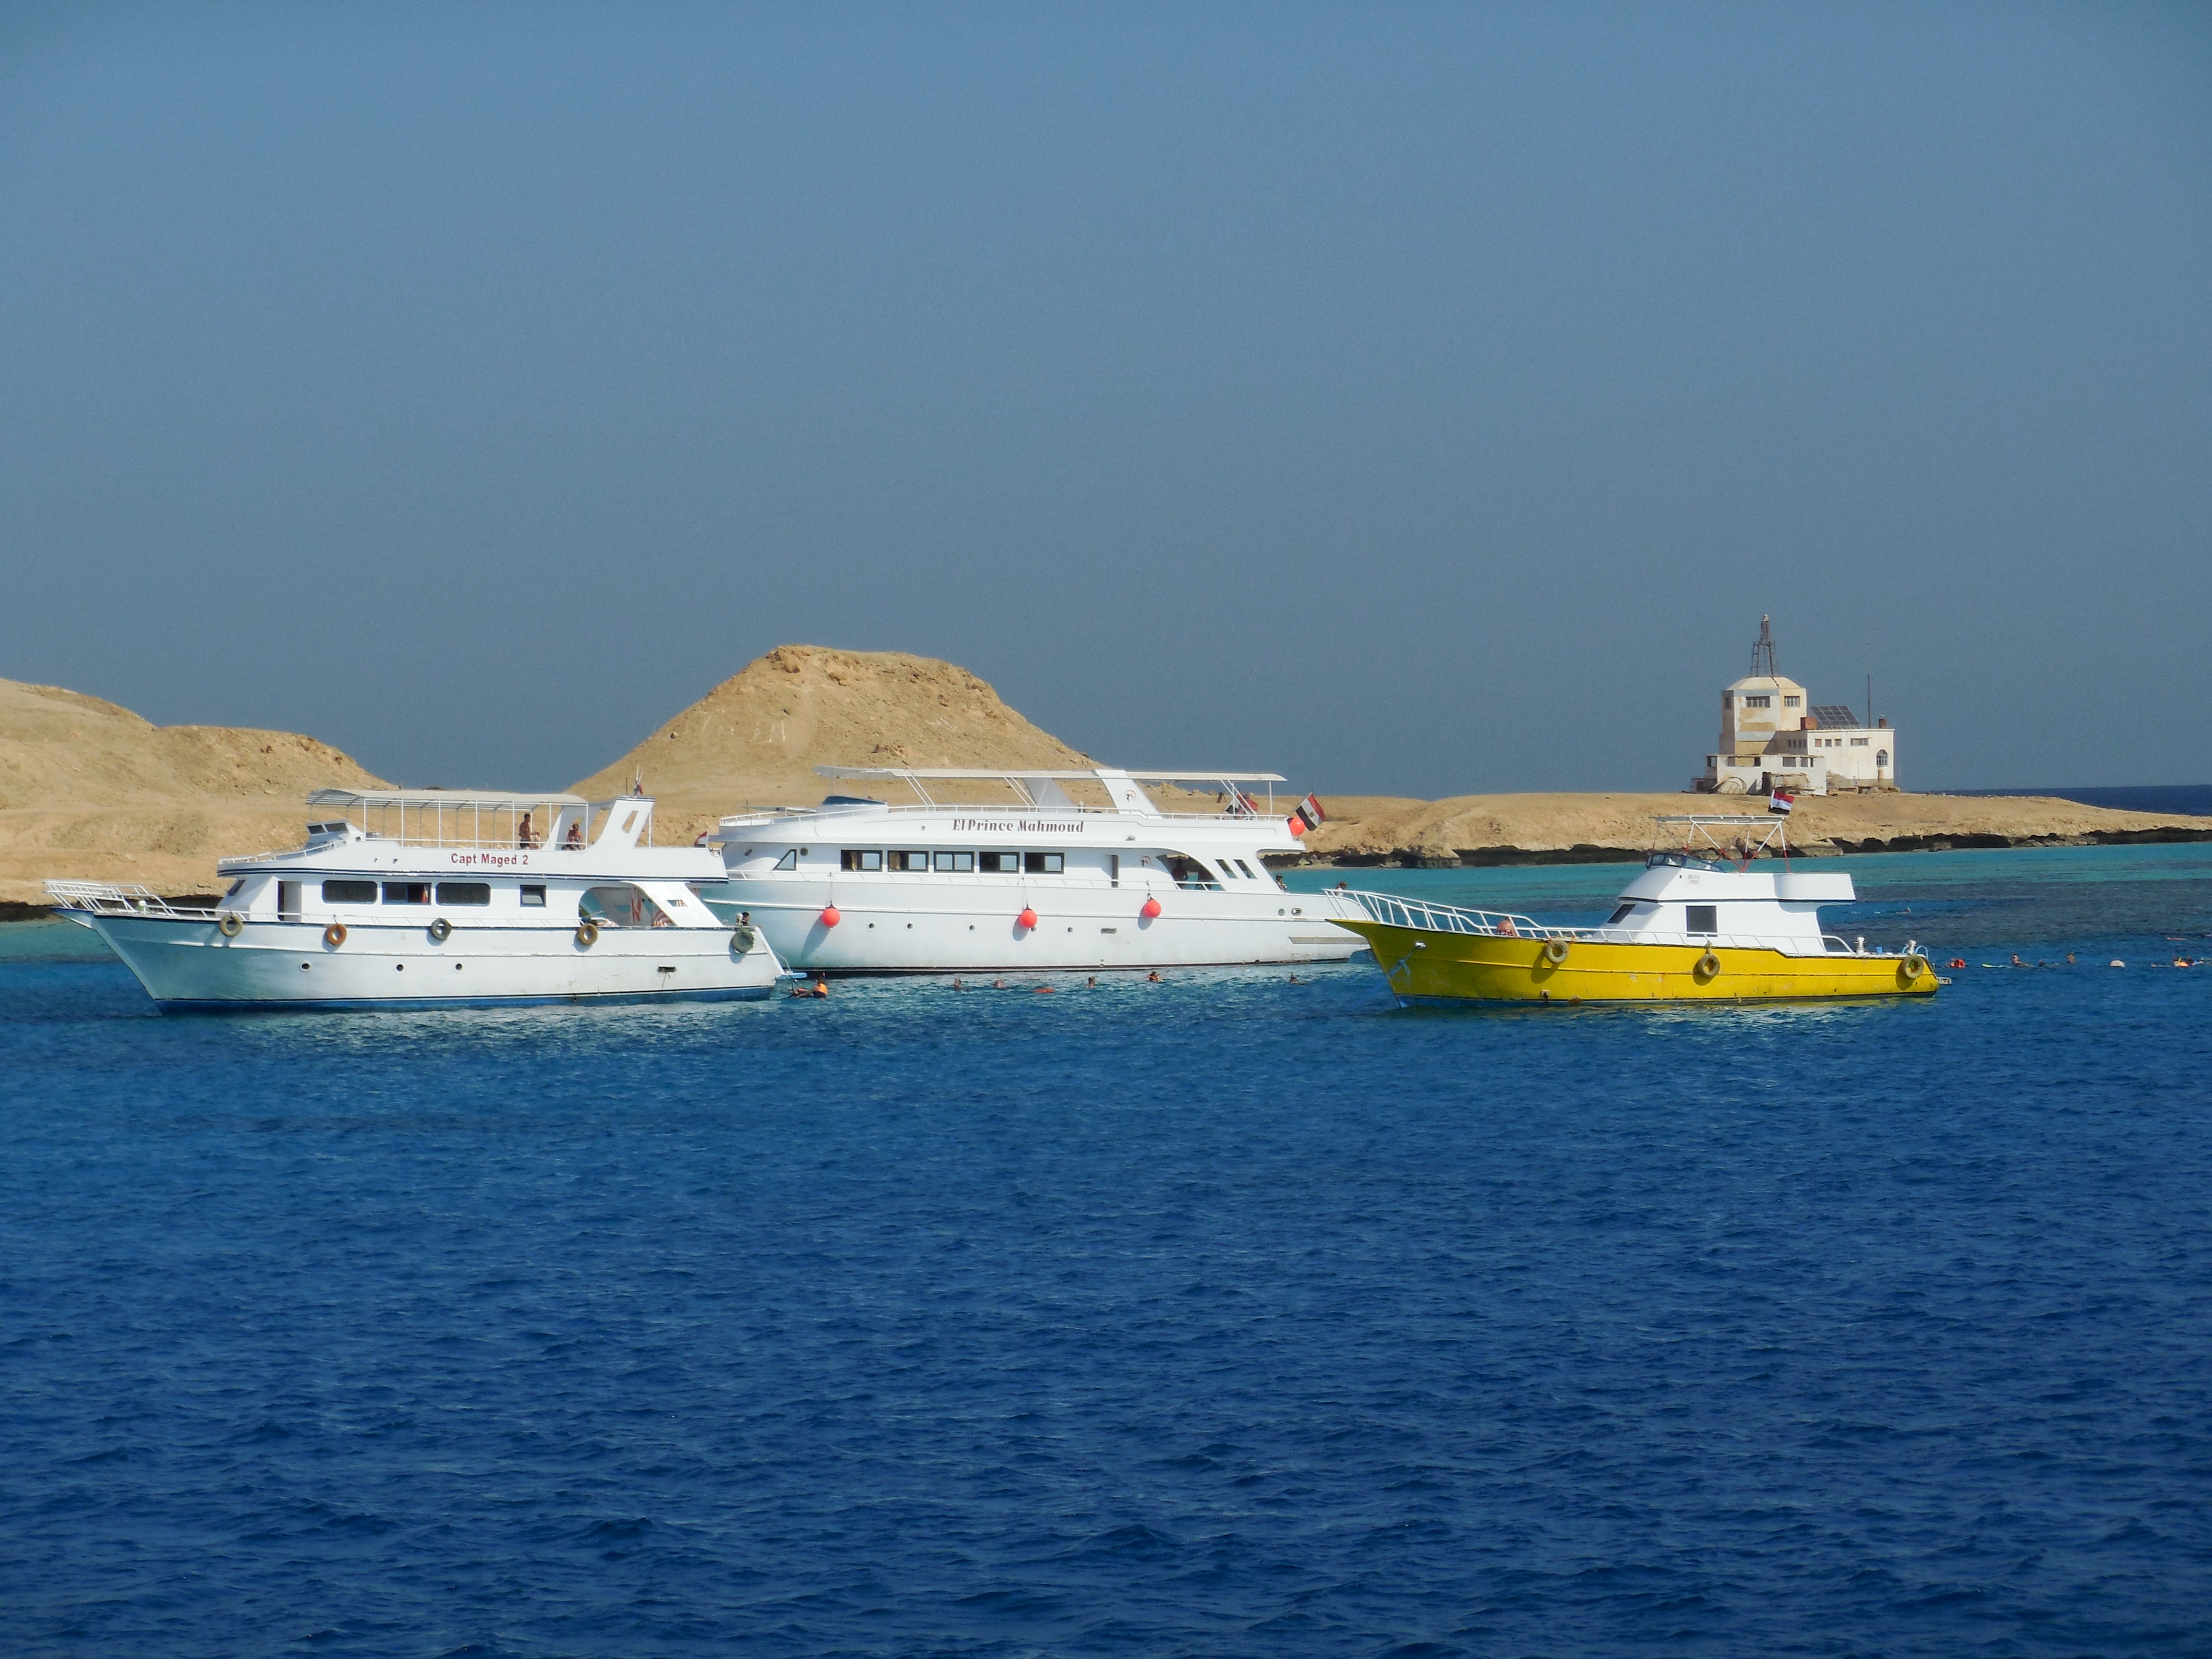
<instances>
[{"instance_id":1,"label":"white lower hull of the Capt Maged 2 yacht, hung with tyres","mask_svg":"<svg viewBox=\"0 0 2212 1659\"><path fill-rule=\"evenodd\" d=\"M783 964L763 945L737 951L719 927L571 929L349 925L332 945L319 922L248 922L73 914L100 933L168 1011L425 1009L546 1002L692 1002L765 998Z\"/></svg>"}]
</instances>

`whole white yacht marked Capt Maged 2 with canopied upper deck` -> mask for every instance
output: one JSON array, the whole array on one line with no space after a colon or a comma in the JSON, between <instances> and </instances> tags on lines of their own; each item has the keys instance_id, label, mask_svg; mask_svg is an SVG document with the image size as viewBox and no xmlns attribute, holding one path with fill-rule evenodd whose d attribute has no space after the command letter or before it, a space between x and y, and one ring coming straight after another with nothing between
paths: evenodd
<instances>
[{"instance_id":1,"label":"whole white yacht marked Capt Maged 2 with canopied upper deck","mask_svg":"<svg viewBox=\"0 0 2212 1659\"><path fill-rule=\"evenodd\" d=\"M164 1009L394 1009L765 998L783 962L699 887L710 847L653 847L653 801L316 790L307 845L226 858L223 896L49 880Z\"/></svg>"}]
</instances>

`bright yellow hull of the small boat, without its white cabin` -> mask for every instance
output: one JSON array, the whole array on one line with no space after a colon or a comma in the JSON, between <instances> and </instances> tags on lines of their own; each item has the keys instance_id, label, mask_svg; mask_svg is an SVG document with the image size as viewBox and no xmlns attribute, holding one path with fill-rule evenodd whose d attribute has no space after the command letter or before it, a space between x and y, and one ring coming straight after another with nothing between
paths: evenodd
<instances>
[{"instance_id":1,"label":"bright yellow hull of the small boat, without its white cabin","mask_svg":"<svg viewBox=\"0 0 2212 1659\"><path fill-rule=\"evenodd\" d=\"M1933 995L1938 984L1916 956L1573 940L1566 960L1551 962L1533 938L1340 925L1374 947L1400 1002L1807 1002ZM1701 967L1708 953L1717 971Z\"/></svg>"}]
</instances>

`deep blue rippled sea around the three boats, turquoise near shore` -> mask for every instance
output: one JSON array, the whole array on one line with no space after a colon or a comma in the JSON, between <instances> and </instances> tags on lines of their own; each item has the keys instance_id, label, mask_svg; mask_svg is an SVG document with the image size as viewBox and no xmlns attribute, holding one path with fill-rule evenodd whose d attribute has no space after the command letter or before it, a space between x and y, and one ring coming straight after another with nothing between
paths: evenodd
<instances>
[{"instance_id":1,"label":"deep blue rippled sea around the three boats, turquoise near shore","mask_svg":"<svg viewBox=\"0 0 2212 1659\"><path fill-rule=\"evenodd\" d=\"M2212 847L1843 867L1971 967L161 1018L4 927L0 1650L2212 1652Z\"/></svg>"}]
</instances>

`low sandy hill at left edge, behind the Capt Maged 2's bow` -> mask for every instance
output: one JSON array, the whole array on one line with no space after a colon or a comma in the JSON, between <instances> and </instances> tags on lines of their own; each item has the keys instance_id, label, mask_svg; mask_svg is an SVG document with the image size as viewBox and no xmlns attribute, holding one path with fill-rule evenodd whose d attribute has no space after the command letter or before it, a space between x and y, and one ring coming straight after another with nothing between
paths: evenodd
<instances>
[{"instance_id":1,"label":"low sandy hill at left edge, behind the Capt Maged 2's bow","mask_svg":"<svg viewBox=\"0 0 2212 1659\"><path fill-rule=\"evenodd\" d=\"M0 679L0 900L35 902L46 876L208 891L217 858L299 845L307 790L378 783L296 732L155 726Z\"/></svg>"}]
</instances>

